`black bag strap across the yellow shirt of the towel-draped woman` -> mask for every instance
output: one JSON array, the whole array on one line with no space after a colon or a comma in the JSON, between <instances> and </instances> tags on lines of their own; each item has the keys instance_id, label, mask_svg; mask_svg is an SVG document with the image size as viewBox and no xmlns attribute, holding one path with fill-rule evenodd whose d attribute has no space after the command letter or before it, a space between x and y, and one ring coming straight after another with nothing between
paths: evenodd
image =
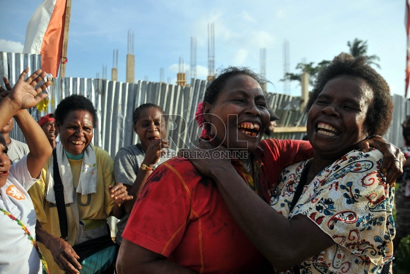
<instances>
[{"instance_id":1,"label":"black bag strap across the yellow shirt of the towel-draped woman","mask_svg":"<svg viewBox=\"0 0 410 274\"><path fill-rule=\"evenodd\" d=\"M54 177L54 195L55 205L57 206L58 221L60 223L61 239L67 241L68 227L67 227L67 212L66 204L64 202L64 186L60 177L60 169L57 162L57 150L53 149L53 177Z\"/></svg>"}]
</instances>

